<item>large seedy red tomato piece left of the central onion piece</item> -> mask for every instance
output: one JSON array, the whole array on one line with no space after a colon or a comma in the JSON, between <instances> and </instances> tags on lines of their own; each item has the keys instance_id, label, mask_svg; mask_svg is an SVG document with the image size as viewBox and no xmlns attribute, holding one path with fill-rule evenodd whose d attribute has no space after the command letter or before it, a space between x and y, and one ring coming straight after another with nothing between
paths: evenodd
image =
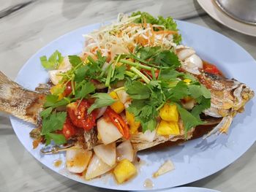
<instances>
[{"instance_id":1,"label":"large seedy red tomato piece left of the central onion piece","mask_svg":"<svg viewBox=\"0 0 256 192\"><path fill-rule=\"evenodd\" d=\"M67 112L72 123L79 128L84 128L86 131L96 125L97 111L94 110L91 114L88 114L87 110L90 106L91 103L86 99L67 105Z\"/></svg>"}]
</instances>

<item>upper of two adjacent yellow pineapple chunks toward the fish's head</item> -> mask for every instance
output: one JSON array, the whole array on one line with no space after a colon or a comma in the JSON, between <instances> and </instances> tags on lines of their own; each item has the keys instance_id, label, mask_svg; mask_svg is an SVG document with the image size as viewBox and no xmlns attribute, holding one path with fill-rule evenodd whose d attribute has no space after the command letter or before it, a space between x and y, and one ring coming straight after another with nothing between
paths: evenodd
<instances>
[{"instance_id":1,"label":"upper of two adjacent yellow pineapple chunks toward the fish's head","mask_svg":"<svg viewBox=\"0 0 256 192\"><path fill-rule=\"evenodd\" d=\"M176 104L165 104L164 107L159 110L159 115L162 120L177 122L178 110Z\"/></svg>"}]
</instances>

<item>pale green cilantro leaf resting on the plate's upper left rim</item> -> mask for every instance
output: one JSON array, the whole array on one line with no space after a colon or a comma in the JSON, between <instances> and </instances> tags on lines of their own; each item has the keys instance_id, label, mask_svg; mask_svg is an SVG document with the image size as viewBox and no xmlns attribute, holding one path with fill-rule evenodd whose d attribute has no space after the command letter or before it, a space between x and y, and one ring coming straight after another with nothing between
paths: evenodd
<instances>
[{"instance_id":1,"label":"pale green cilantro leaf resting on the plate's upper left rim","mask_svg":"<svg viewBox=\"0 0 256 192\"><path fill-rule=\"evenodd\" d=\"M45 55L40 57L41 64L45 69L58 69L59 64L61 64L63 59L64 58L58 50L50 55L49 59L47 59Z\"/></svg>"}]
</instances>

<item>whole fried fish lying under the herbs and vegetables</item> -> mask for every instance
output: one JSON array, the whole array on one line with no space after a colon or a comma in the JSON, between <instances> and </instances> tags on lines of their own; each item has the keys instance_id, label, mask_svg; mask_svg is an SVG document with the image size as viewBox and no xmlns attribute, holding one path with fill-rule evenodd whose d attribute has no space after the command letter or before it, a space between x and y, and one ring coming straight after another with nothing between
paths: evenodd
<instances>
[{"instance_id":1,"label":"whole fried fish lying under the herbs and vegetables","mask_svg":"<svg viewBox=\"0 0 256 192\"><path fill-rule=\"evenodd\" d=\"M243 111L246 102L254 96L254 91L242 82L234 79L228 80L216 74L202 72L196 77L197 80L211 91L211 107L204 112L208 116L209 122L206 125L217 124L217 126L207 136L217 131L220 133L227 132L233 117L237 112ZM38 126L41 122L39 112L43 109L42 105L45 101L45 95L49 93L49 89L48 85L40 85L37 91L26 90L0 72L0 111L7 112L21 120ZM213 120L211 121L211 119ZM219 122L219 120L221 121ZM138 133L132 134L130 141L134 149L138 151L163 142L175 142L178 139L186 140L192 137L195 128L192 128L185 136L181 119L178 121L178 126L180 134L176 136L164 137L155 135L151 141L148 141L142 133ZM87 149L91 149L100 142L97 139L97 131L85 133L82 140L86 144L83 147Z\"/></svg>"}]
</instances>

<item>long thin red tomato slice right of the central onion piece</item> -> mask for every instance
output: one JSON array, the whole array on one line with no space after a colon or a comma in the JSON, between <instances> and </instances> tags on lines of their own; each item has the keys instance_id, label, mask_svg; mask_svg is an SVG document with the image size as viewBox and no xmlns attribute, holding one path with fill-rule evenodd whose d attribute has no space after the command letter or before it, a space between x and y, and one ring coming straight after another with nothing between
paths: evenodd
<instances>
[{"instance_id":1,"label":"long thin red tomato slice right of the central onion piece","mask_svg":"<svg viewBox=\"0 0 256 192\"><path fill-rule=\"evenodd\" d=\"M129 127L127 123L124 122L123 118L110 107L107 108L105 114L108 115L111 122L118 128L120 133L124 136L124 139L129 139Z\"/></svg>"}]
</instances>

